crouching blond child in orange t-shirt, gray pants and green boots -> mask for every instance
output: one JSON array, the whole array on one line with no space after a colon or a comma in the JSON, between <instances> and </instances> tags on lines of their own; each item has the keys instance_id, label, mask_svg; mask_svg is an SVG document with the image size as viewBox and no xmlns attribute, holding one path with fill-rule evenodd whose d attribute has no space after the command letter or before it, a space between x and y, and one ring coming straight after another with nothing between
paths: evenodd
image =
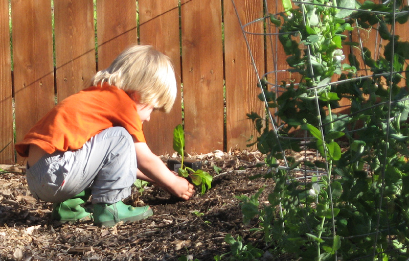
<instances>
[{"instance_id":1,"label":"crouching blond child in orange t-shirt, gray pants and green boots","mask_svg":"<svg viewBox=\"0 0 409 261\"><path fill-rule=\"evenodd\" d=\"M151 46L131 46L92 83L55 106L15 145L28 157L33 196L55 202L52 217L67 222L90 216L81 204L92 195L100 226L153 215L149 206L122 202L137 177L184 200L192 197L193 185L151 152L142 130L153 110L169 112L175 101L170 59Z\"/></svg>"}]
</instances>

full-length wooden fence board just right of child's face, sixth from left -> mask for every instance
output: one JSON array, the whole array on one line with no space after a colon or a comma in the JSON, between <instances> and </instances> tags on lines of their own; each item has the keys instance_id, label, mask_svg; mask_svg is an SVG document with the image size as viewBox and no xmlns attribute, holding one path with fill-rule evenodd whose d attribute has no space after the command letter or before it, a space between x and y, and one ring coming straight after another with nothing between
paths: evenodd
<instances>
[{"instance_id":1,"label":"full-length wooden fence board just right of child's face, sixth from left","mask_svg":"<svg viewBox=\"0 0 409 261\"><path fill-rule=\"evenodd\" d=\"M193 153L222 150L220 1L181 1L181 32L186 149Z\"/></svg>"}]
</instances>

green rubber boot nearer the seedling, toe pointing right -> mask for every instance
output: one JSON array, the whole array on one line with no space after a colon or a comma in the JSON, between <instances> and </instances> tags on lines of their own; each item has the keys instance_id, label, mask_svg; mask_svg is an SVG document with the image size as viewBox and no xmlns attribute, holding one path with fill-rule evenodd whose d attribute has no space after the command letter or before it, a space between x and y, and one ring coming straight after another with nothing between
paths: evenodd
<instances>
[{"instance_id":1,"label":"green rubber boot nearer the seedling, toe pointing right","mask_svg":"<svg viewBox=\"0 0 409 261\"><path fill-rule=\"evenodd\" d=\"M98 203L94 205L94 224L111 227L123 221L133 222L153 215L150 206L132 207L118 201L113 204Z\"/></svg>"}]
</instances>

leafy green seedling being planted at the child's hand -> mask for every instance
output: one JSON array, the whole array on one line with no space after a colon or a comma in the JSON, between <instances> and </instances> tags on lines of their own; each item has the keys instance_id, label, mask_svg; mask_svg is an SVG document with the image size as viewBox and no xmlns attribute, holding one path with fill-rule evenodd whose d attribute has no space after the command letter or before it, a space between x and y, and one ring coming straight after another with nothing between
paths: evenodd
<instances>
[{"instance_id":1,"label":"leafy green seedling being planted at the child's hand","mask_svg":"<svg viewBox=\"0 0 409 261\"><path fill-rule=\"evenodd\" d=\"M181 124L173 130L173 149L181 157L181 168L178 170L180 177L189 178L196 186L201 186L201 195L205 194L207 189L212 187L213 177L202 170L193 170L184 165L185 159L185 132Z\"/></svg>"}]
</instances>

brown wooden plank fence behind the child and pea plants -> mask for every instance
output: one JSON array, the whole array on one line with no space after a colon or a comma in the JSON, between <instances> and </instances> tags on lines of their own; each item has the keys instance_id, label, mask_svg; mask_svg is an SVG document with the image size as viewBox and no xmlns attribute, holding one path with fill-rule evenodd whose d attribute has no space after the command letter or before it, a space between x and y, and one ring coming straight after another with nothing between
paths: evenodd
<instances>
[{"instance_id":1,"label":"brown wooden plank fence behind the child and pea plants","mask_svg":"<svg viewBox=\"0 0 409 261\"><path fill-rule=\"evenodd\" d=\"M262 113L264 105L239 21L282 11L280 0L263 2L54 0L52 6L51 0L0 0L0 150L21 140L56 102L86 87L97 70L134 43L168 55L183 86L169 114L154 112L144 124L153 152L173 153L173 128L182 115L188 152L245 149L256 135L246 113ZM274 61L276 69L286 68L280 44L265 41L263 22L245 29L259 74L273 70ZM407 41L408 25L399 30ZM376 40L361 39L379 50ZM0 163L15 162L14 155L7 146ZM22 160L17 157L17 163Z\"/></svg>"}]
</instances>

